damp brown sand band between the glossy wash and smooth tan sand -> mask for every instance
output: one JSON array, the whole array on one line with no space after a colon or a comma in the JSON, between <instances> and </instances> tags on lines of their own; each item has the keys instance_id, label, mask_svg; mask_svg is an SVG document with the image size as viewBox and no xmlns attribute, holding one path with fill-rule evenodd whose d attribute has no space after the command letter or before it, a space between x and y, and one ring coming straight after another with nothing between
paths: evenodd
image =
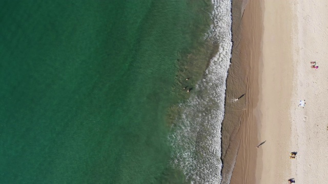
<instances>
[{"instance_id":1,"label":"damp brown sand band between the glossy wash and smooth tan sand","mask_svg":"<svg viewBox=\"0 0 328 184\"><path fill-rule=\"evenodd\" d=\"M257 157L261 157L261 149L256 149L262 141L258 139L260 112L260 70L261 47L263 34L263 12L259 0L250 0L245 6L241 19L240 62L245 71L245 110L240 122L240 143L231 183L255 183Z\"/></svg>"}]
</instances>

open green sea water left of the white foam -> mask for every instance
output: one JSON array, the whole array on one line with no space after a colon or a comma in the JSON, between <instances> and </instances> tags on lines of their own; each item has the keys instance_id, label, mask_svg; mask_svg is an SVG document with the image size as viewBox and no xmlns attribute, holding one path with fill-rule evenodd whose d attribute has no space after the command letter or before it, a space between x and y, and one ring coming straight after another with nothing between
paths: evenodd
<instances>
[{"instance_id":1,"label":"open green sea water left of the white foam","mask_svg":"<svg viewBox=\"0 0 328 184\"><path fill-rule=\"evenodd\" d=\"M0 7L0 183L183 182L167 112L208 2Z\"/></svg>"}]
</instances>

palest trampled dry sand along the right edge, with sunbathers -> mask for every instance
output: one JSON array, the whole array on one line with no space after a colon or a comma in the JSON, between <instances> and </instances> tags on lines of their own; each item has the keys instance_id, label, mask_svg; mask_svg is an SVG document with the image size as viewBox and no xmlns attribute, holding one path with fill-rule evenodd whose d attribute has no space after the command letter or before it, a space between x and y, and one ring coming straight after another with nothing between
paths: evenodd
<instances>
[{"instance_id":1,"label":"palest trampled dry sand along the right edge, with sunbathers","mask_svg":"<svg viewBox=\"0 0 328 184\"><path fill-rule=\"evenodd\" d=\"M328 1L296 1L293 12L292 174L298 183L328 183ZM317 62L319 68L310 67ZM304 108L297 106L305 100Z\"/></svg>"}]
</instances>

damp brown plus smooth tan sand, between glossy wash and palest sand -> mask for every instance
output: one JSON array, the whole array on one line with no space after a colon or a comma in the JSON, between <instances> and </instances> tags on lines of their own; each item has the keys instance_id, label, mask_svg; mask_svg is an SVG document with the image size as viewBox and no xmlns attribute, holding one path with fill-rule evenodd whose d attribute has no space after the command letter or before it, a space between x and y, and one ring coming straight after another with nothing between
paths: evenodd
<instances>
[{"instance_id":1,"label":"damp brown plus smooth tan sand, between glossy wash and palest sand","mask_svg":"<svg viewBox=\"0 0 328 184\"><path fill-rule=\"evenodd\" d=\"M294 64L292 12L286 4L250 0L243 13L239 54L247 95L232 184L286 182L292 177L288 154L295 150L290 149L288 122Z\"/></svg>"}]
</instances>

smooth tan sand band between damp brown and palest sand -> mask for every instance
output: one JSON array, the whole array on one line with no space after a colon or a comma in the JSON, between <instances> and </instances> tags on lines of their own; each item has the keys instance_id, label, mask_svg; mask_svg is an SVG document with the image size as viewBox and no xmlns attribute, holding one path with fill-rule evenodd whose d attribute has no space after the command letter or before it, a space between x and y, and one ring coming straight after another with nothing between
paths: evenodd
<instances>
[{"instance_id":1,"label":"smooth tan sand band between damp brown and palest sand","mask_svg":"<svg viewBox=\"0 0 328 184\"><path fill-rule=\"evenodd\" d=\"M259 142L256 183L288 183L296 178L289 158L291 143L290 109L293 103L293 79L296 77L292 55L292 6L286 1L264 1L262 70L260 71ZM309 67L308 67L309 68ZM306 69L308 69L306 68ZM299 155L297 155L298 157Z\"/></svg>"}]
</instances>

